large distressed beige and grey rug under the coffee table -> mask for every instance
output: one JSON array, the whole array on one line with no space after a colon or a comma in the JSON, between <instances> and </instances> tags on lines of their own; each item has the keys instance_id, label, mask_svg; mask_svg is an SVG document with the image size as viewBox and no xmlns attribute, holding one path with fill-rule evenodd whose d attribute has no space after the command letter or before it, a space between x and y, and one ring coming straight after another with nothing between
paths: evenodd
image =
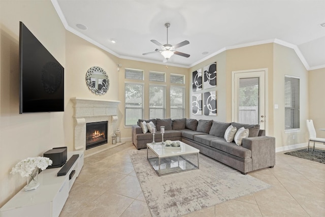
<instances>
[{"instance_id":1,"label":"large distressed beige and grey rug under the coffee table","mask_svg":"<svg viewBox=\"0 0 325 217\"><path fill-rule=\"evenodd\" d=\"M200 154L200 169L158 176L146 150L129 150L152 216L180 216L271 185Z\"/></svg>"}]
</instances>

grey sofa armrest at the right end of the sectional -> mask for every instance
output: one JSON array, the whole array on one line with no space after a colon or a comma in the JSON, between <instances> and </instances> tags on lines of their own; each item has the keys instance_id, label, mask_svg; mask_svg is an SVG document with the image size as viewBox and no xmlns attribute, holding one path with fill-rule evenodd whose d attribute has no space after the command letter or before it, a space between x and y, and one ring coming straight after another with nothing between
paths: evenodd
<instances>
[{"instance_id":1,"label":"grey sofa armrest at the right end of the sectional","mask_svg":"<svg viewBox=\"0 0 325 217\"><path fill-rule=\"evenodd\" d=\"M275 138L258 136L243 139L243 147L252 152L252 170L275 165Z\"/></svg>"}]
</instances>

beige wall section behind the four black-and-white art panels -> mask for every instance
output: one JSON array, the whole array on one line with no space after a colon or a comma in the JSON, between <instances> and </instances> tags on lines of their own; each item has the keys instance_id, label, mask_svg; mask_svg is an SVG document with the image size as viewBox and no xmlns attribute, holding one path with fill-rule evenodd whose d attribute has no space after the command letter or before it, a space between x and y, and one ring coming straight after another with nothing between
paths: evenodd
<instances>
[{"instance_id":1,"label":"beige wall section behind the four black-and-white art panels","mask_svg":"<svg viewBox=\"0 0 325 217\"><path fill-rule=\"evenodd\" d=\"M209 88L209 89L203 89L200 91L192 91L192 72L202 69L202 82L204 82L204 76L203 76L203 68L205 66L208 66L212 63L216 62L217 63L217 86L214 88ZM189 69L189 80L187 82L187 85L190 87L189 89L189 97L190 101L187 104L188 105L188 112L189 112L189 117L194 118L194 119L212 119L216 121L226 121L226 114L228 113L227 108L226 108L226 52L221 52L205 61L202 63L193 66ZM217 99L217 115L216 116L206 116L204 115L204 111L202 111L202 115L194 115L192 114L192 94L203 94L206 91L216 91L216 99ZM202 96L203 99L203 96ZM203 104L202 103L202 109L203 109Z\"/></svg>"}]
</instances>

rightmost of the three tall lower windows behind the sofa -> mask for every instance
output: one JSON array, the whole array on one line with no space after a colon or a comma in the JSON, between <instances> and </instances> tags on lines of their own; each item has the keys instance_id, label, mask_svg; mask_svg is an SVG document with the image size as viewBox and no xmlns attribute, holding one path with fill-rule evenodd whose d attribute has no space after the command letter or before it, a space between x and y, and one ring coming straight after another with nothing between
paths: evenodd
<instances>
[{"instance_id":1,"label":"rightmost of the three tall lower windows behind the sofa","mask_svg":"<svg viewBox=\"0 0 325 217\"><path fill-rule=\"evenodd\" d=\"M171 118L185 116L185 87L171 86Z\"/></svg>"}]
</instances>

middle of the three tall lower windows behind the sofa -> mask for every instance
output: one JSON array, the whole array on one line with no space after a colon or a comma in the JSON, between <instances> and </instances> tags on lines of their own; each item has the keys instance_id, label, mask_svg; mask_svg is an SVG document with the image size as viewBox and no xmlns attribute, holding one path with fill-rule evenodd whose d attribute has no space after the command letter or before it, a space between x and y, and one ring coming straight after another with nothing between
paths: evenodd
<instances>
[{"instance_id":1,"label":"middle of the three tall lower windows behind the sofa","mask_svg":"<svg viewBox=\"0 0 325 217\"><path fill-rule=\"evenodd\" d=\"M149 86L149 118L165 118L166 86Z\"/></svg>"}]
</instances>

